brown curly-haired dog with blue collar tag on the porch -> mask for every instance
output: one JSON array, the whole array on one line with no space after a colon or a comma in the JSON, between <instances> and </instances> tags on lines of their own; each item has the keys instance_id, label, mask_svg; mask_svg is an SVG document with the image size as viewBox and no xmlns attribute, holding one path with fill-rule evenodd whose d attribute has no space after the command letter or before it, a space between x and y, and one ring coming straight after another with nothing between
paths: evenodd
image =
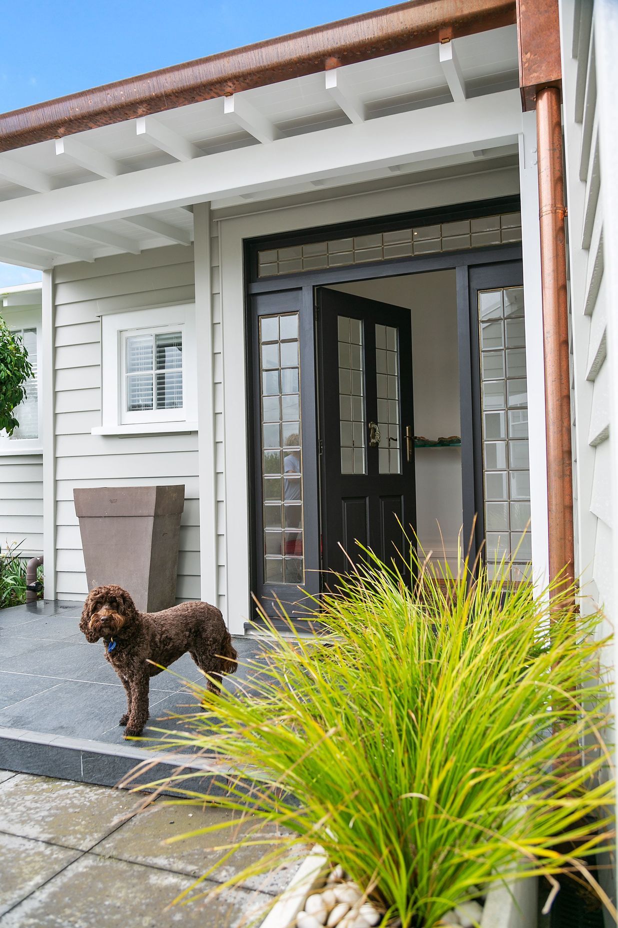
<instances>
[{"instance_id":1,"label":"brown curly-haired dog with blue collar tag on the porch","mask_svg":"<svg viewBox=\"0 0 618 928\"><path fill-rule=\"evenodd\" d=\"M122 586L97 586L84 602L80 629L88 641L105 641L105 657L122 680L128 708L124 737L140 735L148 720L149 678L187 651L218 692L222 674L235 673L238 654L223 616L207 602L183 602L162 612L137 612ZM153 664L148 662L152 661ZM154 664L161 664L157 667Z\"/></svg>"}]
</instances>

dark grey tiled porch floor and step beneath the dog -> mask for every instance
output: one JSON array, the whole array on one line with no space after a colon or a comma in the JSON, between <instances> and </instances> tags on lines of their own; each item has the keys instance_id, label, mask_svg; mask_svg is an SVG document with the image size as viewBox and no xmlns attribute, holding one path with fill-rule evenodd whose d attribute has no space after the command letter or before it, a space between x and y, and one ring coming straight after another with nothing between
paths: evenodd
<instances>
[{"instance_id":1,"label":"dark grey tiled porch floor and step beneath the dog","mask_svg":"<svg viewBox=\"0 0 618 928\"><path fill-rule=\"evenodd\" d=\"M128 761L121 769L109 759L114 745L128 743L118 725L126 697L104 658L103 645L89 644L79 631L81 611L76 602L38 602L0 611L0 728L25 732L19 743L6 740L6 732L0 735L0 766L111 785L130 769ZM234 643L241 661L263 649L255 638L235 638ZM166 716L199 709L183 683L183 678L203 678L198 667L185 654L172 671L151 679L147 741L132 746L156 747L161 733L153 729L172 732L179 724ZM247 668L239 667L225 686L235 688L246 678ZM46 736L46 743L36 733ZM63 739L81 742L73 745L74 756L63 753L68 750Z\"/></svg>"}]
</instances>

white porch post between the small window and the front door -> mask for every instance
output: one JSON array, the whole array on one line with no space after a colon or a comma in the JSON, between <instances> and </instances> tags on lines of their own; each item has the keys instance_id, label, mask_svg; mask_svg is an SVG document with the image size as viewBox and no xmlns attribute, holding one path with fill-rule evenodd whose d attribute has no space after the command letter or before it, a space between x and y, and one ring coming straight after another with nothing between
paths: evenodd
<instances>
[{"instance_id":1,"label":"white porch post between the small window and the front door","mask_svg":"<svg viewBox=\"0 0 618 928\"><path fill-rule=\"evenodd\" d=\"M198 357L198 474L200 486L200 596L217 605L217 512L214 459L211 204L193 211L195 235L195 339Z\"/></svg>"}]
</instances>

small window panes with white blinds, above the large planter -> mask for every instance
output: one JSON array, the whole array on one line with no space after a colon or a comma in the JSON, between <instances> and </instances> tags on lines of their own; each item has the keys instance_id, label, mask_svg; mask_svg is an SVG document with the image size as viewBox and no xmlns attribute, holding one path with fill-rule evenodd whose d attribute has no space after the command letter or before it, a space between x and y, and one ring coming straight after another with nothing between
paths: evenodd
<instances>
[{"instance_id":1,"label":"small window panes with white blinds, above the large planter","mask_svg":"<svg viewBox=\"0 0 618 928\"><path fill-rule=\"evenodd\" d=\"M128 335L125 350L126 411L182 407L182 334L140 332Z\"/></svg>"}]
</instances>

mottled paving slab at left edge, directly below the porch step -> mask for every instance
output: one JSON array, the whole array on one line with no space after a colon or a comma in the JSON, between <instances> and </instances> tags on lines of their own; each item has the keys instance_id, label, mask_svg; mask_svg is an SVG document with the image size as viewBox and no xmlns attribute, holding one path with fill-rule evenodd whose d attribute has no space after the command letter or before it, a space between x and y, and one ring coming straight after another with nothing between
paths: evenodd
<instances>
[{"instance_id":1,"label":"mottled paving slab at left edge, directly below the porch step","mask_svg":"<svg viewBox=\"0 0 618 928\"><path fill-rule=\"evenodd\" d=\"M85 851L142 802L104 786L19 773L0 783L0 831Z\"/></svg>"}]
</instances>

